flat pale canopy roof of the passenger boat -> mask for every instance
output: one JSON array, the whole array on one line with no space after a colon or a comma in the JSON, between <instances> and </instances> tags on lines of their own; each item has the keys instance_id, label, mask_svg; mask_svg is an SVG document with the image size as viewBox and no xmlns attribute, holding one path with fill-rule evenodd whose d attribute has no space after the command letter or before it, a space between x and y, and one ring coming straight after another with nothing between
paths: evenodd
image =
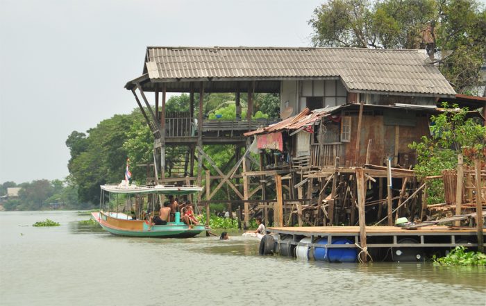
<instances>
[{"instance_id":1,"label":"flat pale canopy roof of the passenger boat","mask_svg":"<svg viewBox=\"0 0 486 306\"><path fill-rule=\"evenodd\" d=\"M174 186L174 185L156 185L156 186L137 186L137 185L101 185L101 189L114 194L166 194L166 195L184 195L202 192L202 187L197 186Z\"/></svg>"}]
</instances>

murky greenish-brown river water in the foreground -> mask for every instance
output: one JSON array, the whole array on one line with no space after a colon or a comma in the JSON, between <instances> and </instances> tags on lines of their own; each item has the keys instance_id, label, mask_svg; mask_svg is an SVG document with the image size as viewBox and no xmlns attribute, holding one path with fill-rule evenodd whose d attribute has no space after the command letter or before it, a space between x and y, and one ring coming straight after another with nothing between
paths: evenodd
<instances>
[{"instance_id":1,"label":"murky greenish-brown river water in the foreground","mask_svg":"<svg viewBox=\"0 0 486 306\"><path fill-rule=\"evenodd\" d=\"M47 218L61 226L32 226ZM126 238L87 219L0 212L0 305L486 305L484 267L262 257L237 233Z\"/></svg>"}]
</instances>

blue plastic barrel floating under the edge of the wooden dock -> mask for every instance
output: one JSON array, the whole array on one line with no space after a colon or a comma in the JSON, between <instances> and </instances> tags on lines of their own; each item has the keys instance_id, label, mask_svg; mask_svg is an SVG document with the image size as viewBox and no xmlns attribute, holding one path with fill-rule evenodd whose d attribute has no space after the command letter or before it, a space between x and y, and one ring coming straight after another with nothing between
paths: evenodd
<instances>
[{"instance_id":1,"label":"blue plastic barrel floating under the edge of the wooden dock","mask_svg":"<svg viewBox=\"0 0 486 306\"><path fill-rule=\"evenodd\" d=\"M327 244L327 238L321 238L316 244ZM333 239L332 244L353 244L348 239ZM325 262L355 262L358 259L356 248L314 248L314 259Z\"/></svg>"}]
</instances>

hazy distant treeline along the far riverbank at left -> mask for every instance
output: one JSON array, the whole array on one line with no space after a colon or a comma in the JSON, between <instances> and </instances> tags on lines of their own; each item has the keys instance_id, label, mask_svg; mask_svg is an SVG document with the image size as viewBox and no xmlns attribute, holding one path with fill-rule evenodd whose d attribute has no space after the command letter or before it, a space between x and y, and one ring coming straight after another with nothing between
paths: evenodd
<instances>
[{"instance_id":1,"label":"hazy distant treeline along the far riverbank at left","mask_svg":"<svg viewBox=\"0 0 486 306\"><path fill-rule=\"evenodd\" d=\"M10 187L19 187L17 196L8 196ZM78 201L77 186L66 180L33 180L32 182L3 182L0 185L0 204L5 210L81 210L92 207Z\"/></svg>"}]
</instances>

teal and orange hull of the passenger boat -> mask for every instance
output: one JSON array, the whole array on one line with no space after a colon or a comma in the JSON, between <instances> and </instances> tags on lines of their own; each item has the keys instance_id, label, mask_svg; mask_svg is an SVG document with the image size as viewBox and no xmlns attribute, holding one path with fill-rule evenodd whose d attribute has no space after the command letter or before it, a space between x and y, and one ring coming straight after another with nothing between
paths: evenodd
<instances>
[{"instance_id":1,"label":"teal and orange hull of the passenger boat","mask_svg":"<svg viewBox=\"0 0 486 306\"><path fill-rule=\"evenodd\" d=\"M185 223L174 222L150 226L147 221L117 219L103 212L92 212L92 216L107 232L125 237L190 238L208 230L201 225L190 228Z\"/></svg>"}]
</instances>

